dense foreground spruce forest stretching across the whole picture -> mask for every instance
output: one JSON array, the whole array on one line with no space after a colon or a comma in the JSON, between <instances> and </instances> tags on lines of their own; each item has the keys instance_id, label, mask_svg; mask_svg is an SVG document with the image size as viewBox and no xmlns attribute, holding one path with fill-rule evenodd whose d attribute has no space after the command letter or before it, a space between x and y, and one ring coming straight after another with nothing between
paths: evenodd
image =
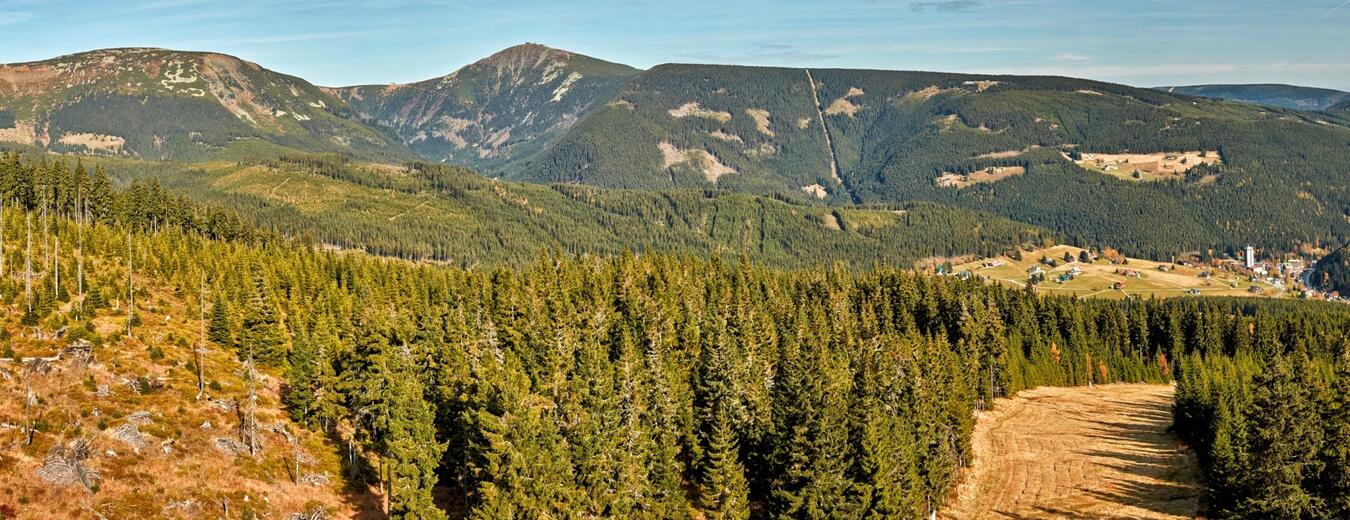
<instances>
[{"instance_id":1,"label":"dense foreground spruce forest stretching across the whole picture","mask_svg":"<svg viewBox=\"0 0 1350 520\"><path fill-rule=\"evenodd\" d=\"M927 516L994 398L1172 380L1215 515L1350 504L1343 307L651 254L452 269L316 251L100 169L8 165L4 236L78 227L81 255L209 293L209 343L282 378L290 417L340 442L393 517ZM0 292L26 324L113 348L61 303L127 296L131 331L119 273L58 261Z\"/></svg>"}]
</instances>

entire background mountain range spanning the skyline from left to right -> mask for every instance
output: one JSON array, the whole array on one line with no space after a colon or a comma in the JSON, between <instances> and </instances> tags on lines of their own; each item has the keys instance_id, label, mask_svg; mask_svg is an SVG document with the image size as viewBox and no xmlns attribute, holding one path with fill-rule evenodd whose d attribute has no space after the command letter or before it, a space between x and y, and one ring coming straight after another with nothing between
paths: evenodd
<instances>
[{"instance_id":1,"label":"entire background mountain range spanning the skyline from left to right","mask_svg":"<svg viewBox=\"0 0 1350 520\"><path fill-rule=\"evenodd\" d=\"M209 177L225 163L312 153L401 165L420 154L506 180L693 190L675 199L718 189L890 209L937 203L1157 259L1350 242L1342 166L1350 119L1336 113L1061 77L707 65L639 72L539 45L441 78L339 89L220 54L153 49L0 68L0 140L202 162L162 169L185 177L165 185L197 194L207 189L189 185L204 176ZM277 178L273 186L286 178L279 170L236 177ZM644 207L667 197L626 193ZM255 196L216 200L251 212ZM680 216L707 215L680 205ZM342 217L374 222L351 216ZM649 226L632 232L651 236ZM387 228L327 236L460 259L425 240L371 246Z\"/></svg>"}]
</instances>

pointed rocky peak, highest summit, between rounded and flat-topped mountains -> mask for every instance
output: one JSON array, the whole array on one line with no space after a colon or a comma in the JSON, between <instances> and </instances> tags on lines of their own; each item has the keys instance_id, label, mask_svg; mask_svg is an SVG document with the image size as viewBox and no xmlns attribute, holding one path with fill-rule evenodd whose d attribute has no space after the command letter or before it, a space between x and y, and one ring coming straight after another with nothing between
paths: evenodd
<instances>
[{"instance_id":1,"label":"pointed rocky peak, highest summit, between rounded and flat-topped mountains","mask_svg":"<svg viewBox=\"0 0 1350 520\"><path fill-rule=\"evenodd\" d=\"M433 80L329 92L424 158L491 172L541 149L637 73L526 43Z\"/></svg>"}]
</instances>

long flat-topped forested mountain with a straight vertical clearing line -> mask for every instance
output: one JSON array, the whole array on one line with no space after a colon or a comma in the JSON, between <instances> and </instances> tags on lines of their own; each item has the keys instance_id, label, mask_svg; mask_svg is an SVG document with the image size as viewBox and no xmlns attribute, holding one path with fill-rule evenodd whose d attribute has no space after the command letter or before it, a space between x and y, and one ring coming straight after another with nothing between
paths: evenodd
<instances>
[{"instance_id":1,"label":"long flat-topped forested mountain with a straight vertical clearing line","mask_svg":"<svg viewBox=\"0 0 1350 520\"><path fill-rule=\"evenodd\" d=\"M513 178L929 200L1166 257L1339 243L1347 145L1339 119L1087 80L662 65ZM1075 163L1127 151L1222 161L1149 182Z\"/></svg>"}]
</instances>

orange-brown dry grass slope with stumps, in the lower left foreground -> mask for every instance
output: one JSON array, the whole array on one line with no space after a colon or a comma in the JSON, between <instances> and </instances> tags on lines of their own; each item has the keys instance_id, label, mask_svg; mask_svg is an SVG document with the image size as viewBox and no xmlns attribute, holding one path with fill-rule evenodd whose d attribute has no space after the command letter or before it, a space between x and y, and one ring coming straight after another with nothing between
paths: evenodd
<instances>
[{"instance_id":1,"label":"orange-brown dry grass slope with stumps, in the lower left foreground","mask_svg":"<svg viewBox=\"0 0 1350 520\"><path fill-rule=\"evenodd\" d=\"M93 258L89 267L94 273L119 271L113 262ZM285 436L270 431L261 434L263 451L258 457L219 452L213 439L235 436L239 420L232 408L216 404L244 396L240 363L231 351L211 346L204 366L207 380L216 381L219 389L208 390L215 401L196 400L190 366L196 298L178 297L173 288L139 274L136 285L147 293L136 298L142 324L134 338L122 336L124 313L101 311L94 323L107 343L93 348L93 363L61 359L31 381L40 400L32 444L26 444L22 430L23 384L19 377L0 377L0 424L8 425L0 428L0 508L12 508L16 519L27 520L239 517L244 509L277 519L320 504L331 517L343 519L377 506L378 496L344 489L339 450L328 438L289 423L275 373L262 377L258 421L288 424L313 458L301 466L301 477L327 474L328 482L296 484L289 471L293 450ZM0 328L14 335L18 355L51 357L66 346L65 339L35 338L19 327L19 315L15 308L0 315ZM163 357L153 359L151 347ZM20 373L15 362L0 362L0 370ZM211 427L202 428L205 423ZM119 428L126 434L128 424L136 424L139 452L115 435ZM92 443L86 463L103 477L93 493L36 477L49 451L74 439Z\"/></svg>"}]
</instances>

